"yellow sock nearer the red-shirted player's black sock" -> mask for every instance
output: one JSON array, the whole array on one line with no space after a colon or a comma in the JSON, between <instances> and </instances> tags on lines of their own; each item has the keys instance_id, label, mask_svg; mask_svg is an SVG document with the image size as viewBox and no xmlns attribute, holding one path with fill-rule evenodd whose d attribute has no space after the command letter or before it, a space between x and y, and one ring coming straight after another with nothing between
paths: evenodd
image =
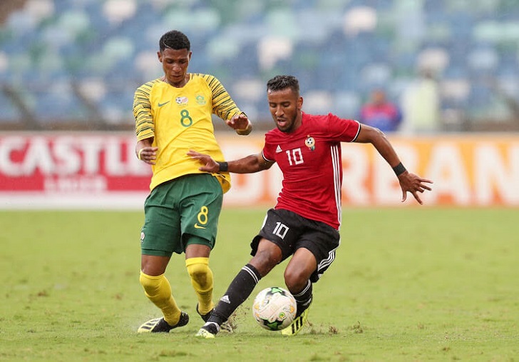
<instances>
[{"instance_id":1,"label":"yellow sock nearer the red-shirted player's black sock","mask_svg":"<svg viewBox=\"0 0 519 362\"><path fill-rule=\"evenodd\" d=\"M212 303L212 271L209 268L209 258L188 258L185 260L187 273L191 277L192 287L198 298L198 311L207 314L215 303Z\"/></svg>"}]
</instances>

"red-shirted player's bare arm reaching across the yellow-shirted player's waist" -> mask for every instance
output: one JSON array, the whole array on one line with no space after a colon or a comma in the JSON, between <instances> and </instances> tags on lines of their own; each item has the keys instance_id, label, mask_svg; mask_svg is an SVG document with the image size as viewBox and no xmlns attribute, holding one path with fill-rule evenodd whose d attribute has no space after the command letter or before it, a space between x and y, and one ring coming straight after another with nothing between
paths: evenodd
<instances>
[{"instance_id":1,"label":"red-shirted player's bare arm reaching across the yellow-shirted player's waist","mask_svg":"<svg viewBox=\"0 0 519 362\"><path fill-rule=\"evenodd\" d=\"M253 174L258 171L270 169L274 164L274 162L265 161L262 154L250 155L243 159L228 162L215 161L211 156L200 154L200 152L193 150L187 152L187 156L200 161L203 165L200 167L200 171L210 172L212 174L220 171L228 171L234 174Z\"/></svg>"}]
</instances>

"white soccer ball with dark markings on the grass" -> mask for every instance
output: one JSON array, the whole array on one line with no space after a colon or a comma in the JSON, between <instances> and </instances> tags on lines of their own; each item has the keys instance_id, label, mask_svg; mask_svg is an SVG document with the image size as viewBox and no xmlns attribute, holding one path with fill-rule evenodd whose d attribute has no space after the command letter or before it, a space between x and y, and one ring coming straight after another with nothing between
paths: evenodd
<instances>
[{"instance_id":1,"label":"white soccer ball with dark markings on the grass","mask_svg":"<svg viewBox=\"0 0 519 362\"><path fill-rule=\"evenodd\" d=\"M268 331L279 331L290 326L296 311L294 296L277 286L260 291L252 305L252 314L257 323Z\"/></svg>"}]
</instances>

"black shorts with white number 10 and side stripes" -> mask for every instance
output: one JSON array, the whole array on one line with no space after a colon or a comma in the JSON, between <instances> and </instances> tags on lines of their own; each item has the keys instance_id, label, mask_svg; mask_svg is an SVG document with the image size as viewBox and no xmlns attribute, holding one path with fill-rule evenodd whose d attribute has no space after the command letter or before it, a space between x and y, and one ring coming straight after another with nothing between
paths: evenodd
<instances>
[{"instance_id":1,"label":"black shorts with white number 10 and side stripes","mask_svg":"<svg viewBox=\"0 0 519 362\"><path fill-rule=\"evenodd\" d=\"M293 255L299 248L307 248L317 260L317 270L310 280L315 283L335 259L339 247L339 231L321 221L310 220L288 210L267 211L262 229L252 239L251 255L255 256L261 238L275 243L282 251L282 261Z\"/></svg>"}]
</instances>

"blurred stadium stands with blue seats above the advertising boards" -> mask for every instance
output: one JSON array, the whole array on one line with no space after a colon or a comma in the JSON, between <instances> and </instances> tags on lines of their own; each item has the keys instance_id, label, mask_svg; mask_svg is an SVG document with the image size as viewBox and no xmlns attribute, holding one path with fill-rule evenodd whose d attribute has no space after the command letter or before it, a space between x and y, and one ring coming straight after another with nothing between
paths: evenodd
<instances>
[{"instance_id":1,"label":"blurred stadium stands with blue seats above the advertising boards","mask_svg":"<svg viewBox=\"0 0 519 362\"><path fill-rule=\"evenodd\" d=\"M170 29L260 128L266 81L292 74L309 113L519 130L517 0L1 0L0 129L133 129Z\"/></svg>"}]
</instances>

